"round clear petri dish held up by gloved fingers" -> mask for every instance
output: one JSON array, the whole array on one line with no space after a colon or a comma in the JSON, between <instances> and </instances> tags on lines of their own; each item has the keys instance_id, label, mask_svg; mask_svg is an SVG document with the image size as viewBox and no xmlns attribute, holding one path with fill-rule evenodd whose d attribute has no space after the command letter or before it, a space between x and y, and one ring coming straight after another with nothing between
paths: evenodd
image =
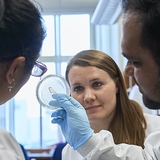
<instances>
[{"instance_id":1,"label":"round clear petri dish held up by gloved fingers","mask_svg":"<svg viewBox=\"0 0 160 160\"><path fill-rule=\"evenodd\" d=\"M54 93L64 93L70 95L68 82L59 75L50 74L43 77L37 84L36 97L38 102L45 108L55 110L60 106L58 102L52 98ZM49 103L52 101L52 105Z\"/></svg>"}]
</instances>

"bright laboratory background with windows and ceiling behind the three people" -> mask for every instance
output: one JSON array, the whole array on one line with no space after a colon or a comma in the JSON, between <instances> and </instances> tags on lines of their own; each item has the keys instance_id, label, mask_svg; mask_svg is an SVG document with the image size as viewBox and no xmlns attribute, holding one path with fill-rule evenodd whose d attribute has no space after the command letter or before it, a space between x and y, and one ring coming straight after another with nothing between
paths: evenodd
<instances>
[{"instance_id":1,"label":"bright laboratory background with windows and ceiling behind the three people","mask_svg":"<svg viewBox=\"0 0 160 160\"><path fill-rule=\"evenodd\" d=\"M10 132L21 144L27 154L26 159L60 160L55 153L61 154L66 141L61 128L51 123L53 110L39 102L37 92L41 92L43 87L37 91L38 84L51 74L65 78L68 61L76 53L87 49L109 54L123 73L126 59L121 55L121 5L120 0L33 2L41 6L47 29L38 61L43 62L48 70L42 77L31 76L11 100L0 106L0 128ZM125 75L124 79L130 98L139 101L143 107L141 93L133 79ZM143 109L150 114L160 114L159 111ZM58 150L59 144L61 146Z\"/></svg>"}]
</instances>

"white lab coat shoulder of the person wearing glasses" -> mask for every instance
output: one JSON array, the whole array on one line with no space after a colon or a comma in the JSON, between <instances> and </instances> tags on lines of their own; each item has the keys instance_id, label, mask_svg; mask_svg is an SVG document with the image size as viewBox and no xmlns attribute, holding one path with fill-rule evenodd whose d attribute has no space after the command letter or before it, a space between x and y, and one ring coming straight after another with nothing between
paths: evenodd
<instances>
[{"instance_id":1,"label":"white lab coat shoulder of the person wearing glasses","mask_svg":"<svg viewBox=\"0 0 160 160\"><path fill-rule=\"evenodd\" d=\"M0 160L25 160L18 142L3 129L0 129Z\"/></svg>"}]
</instances>

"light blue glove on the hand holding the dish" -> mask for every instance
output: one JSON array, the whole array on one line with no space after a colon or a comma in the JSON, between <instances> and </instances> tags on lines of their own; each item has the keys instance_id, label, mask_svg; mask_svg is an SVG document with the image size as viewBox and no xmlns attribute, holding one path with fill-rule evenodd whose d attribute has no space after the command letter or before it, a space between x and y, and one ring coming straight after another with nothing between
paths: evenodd
<instances>
[{"instance_id":1,"label":"light blue glove on the hand holding the dish","mask_svg":"<svg viewBox=\"0 0 160 160\"><path fill-rule=\"evenodd\" d=\"M74 149L77 149L93 135L86 111L79 102L70 96L59 93L53 94L52 97L62 107L52 113L52 123L61 126L66 141ZM50 105L52 105L52 101Z\"/></svg>"}]
</instances>

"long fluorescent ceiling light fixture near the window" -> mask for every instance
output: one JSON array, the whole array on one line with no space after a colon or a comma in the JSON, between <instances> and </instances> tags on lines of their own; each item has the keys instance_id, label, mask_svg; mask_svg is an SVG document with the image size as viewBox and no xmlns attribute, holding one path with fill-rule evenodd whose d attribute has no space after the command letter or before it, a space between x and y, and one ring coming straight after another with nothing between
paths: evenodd
<instances>
[{"instance_id":1,"label":"long fluorescent ceiling light fixture near the window","mask_svg":"<svg viewBox=\"0 0 160 160\"><path fill-rule=\"evenodd\" d=\"M121 15L120 0L99 0L91 18L93 24L114 24Z\"/></svg>"}]
</instances>

